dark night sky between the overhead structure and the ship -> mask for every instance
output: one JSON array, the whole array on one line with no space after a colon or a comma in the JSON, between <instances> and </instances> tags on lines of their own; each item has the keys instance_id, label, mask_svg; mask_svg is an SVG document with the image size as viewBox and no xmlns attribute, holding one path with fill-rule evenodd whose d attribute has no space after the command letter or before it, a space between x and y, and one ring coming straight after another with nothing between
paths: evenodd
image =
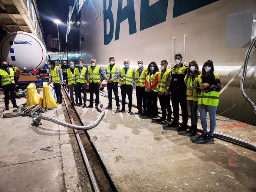
<instances>
[{"instance_id":1,"label":"dark night sky between the overhead structure and the ship","mask_svg":"<svg viewBox=\"0 0 256 192\"><path fill-rule=\"evenodd\" d=\"M62 21L59 24L59 36L62 42L62 49L66 47L66 30L69 13L69 6L73 6L75 0L36 0L37 8L40 14L43 32L46 36L52 34L58 37L57 24L53 22L55 19Z\"/></svg>"}]
</instances>

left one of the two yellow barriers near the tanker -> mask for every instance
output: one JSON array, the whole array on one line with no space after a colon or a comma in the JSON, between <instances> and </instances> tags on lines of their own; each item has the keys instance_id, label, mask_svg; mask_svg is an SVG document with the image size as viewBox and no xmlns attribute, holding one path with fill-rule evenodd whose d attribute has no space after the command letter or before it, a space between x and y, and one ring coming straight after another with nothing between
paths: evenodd
<instances>
[{"instance_id":1,"label":"left one of the two yellow barriers near the tanker","mask_svg":"<svg viewBox=\"0 0 256 192\"><path fill-rule=\"evenodd\" d=\"M30 83L27 86L27 106L40 104L42 106L43 98L37 93L36 84Z\"/></svg>"}]
</instances>

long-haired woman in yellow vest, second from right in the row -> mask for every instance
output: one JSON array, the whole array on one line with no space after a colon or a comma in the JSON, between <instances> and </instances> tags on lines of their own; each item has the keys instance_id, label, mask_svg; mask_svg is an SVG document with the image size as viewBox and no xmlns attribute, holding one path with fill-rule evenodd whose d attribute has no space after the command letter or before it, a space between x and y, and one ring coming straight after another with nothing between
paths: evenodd
<instances>
[{"instance_id":1,"label":"long-haired woman in yellow vest, second from right in the row","mask_svg":"<svg viewBox=\"0 0 256 192\"><path fill-rule=\"evenodd\" d=\"M188 72L185 76L185 83L187 85L187 102L190 109L190 118L191 118L191 128L187 133L191 133L191 136L195 136L197 132L197 107L198 107L198 97L199 92L197 90L198 84L198 75L201 72L199 71L198 64L195 60L192 60L188 64Z\"/></svg>"}]
</instances>

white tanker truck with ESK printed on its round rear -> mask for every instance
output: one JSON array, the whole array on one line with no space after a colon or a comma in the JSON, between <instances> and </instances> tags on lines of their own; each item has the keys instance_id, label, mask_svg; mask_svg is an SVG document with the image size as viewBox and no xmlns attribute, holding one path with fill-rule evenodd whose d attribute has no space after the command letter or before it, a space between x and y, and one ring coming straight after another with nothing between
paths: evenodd
<instances>
[{"instance_id":1,"label":"white tanker truck with ESK printed on its round rear","mask_svg":"<svg viewBox=\"0 0 256 192\"><path fill-rule=\"evenodd\" d=\"M0 44L0 57L22 71L21 89L26 89L29 83L41 86L49 82L48 54L45 45L33 34L18 31L5 36Z\"/></svg>"}]
</instances>

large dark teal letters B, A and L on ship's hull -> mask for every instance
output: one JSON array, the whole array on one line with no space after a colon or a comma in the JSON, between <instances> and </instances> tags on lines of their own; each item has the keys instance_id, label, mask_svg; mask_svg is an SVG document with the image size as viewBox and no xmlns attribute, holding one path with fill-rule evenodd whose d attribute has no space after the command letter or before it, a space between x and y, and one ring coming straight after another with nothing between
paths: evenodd
<instances>
[{"instance_id":1,"label":"large dark teal letters B, A and L on ship's hull","mask_svg":"<svg viewBox=\"0 0 256 192\"><path fill-rule=\"evenodd\" d=\"M141 0L141 15L140 15L140 31L149 27L155 26L166 21L168 0L159 0L149 6L150 0ZM112 0L108 0L108 9L106 7L107 0L103 1L104 10L104 44L109 44L114 36L114 16L111 10ZM134 0L127 0L127 6L122 9L122 0L118 0L118 8L116 15L115 40L119 39L120 24L128 19L129 34L137 32ZM107 20L109 21L109 33L107 34Z\"/></svg>"}]
</instances>

